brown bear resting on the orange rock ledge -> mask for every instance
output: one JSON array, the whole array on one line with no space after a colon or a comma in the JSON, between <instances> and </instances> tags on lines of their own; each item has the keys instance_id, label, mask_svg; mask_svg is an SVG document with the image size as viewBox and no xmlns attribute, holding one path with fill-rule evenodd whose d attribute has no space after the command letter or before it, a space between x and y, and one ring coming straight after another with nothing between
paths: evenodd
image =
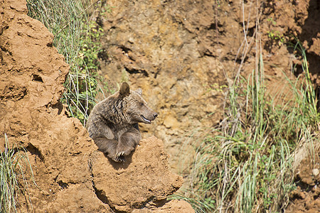
<instances>
[{"instance_id":1,"label":"brown bear resting on the orange rock ledge","mask_svg":"<svg viewBox=\"0 0 320 213\"><path fill-rule=\"evenodd\" d=\"M151 124L156 119L141 97L142 89L130 91L123 82L118 92L93 107L87 119L87 131L99 151L107 153L116 162L124 162L141 140L138 123Z\"/></svg>"}]
</instances>

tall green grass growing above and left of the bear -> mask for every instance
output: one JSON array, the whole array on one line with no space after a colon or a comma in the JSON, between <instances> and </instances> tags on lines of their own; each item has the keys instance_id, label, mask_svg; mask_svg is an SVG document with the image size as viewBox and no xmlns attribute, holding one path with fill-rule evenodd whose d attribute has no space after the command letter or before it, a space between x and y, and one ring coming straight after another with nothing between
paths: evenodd
<instances>
[{"instance_id":1,"label":"tall green grass growing above and left of the bear","mask_svg":"<svg viewBox=\"0 0 320 213\"><path fill-rule=\"evenodd\" d=\"M102 7L100 1L94 4L75 0L63 1L63 4L53 0L27 2L28 15L41 21L55 35L53 45L70 65L61 101L68 104L71 116L85 124L96 95L99 92L103 94L98 84L102 82L101 77L97 75L103 30L94 21L90 11L93 13L93 7L107 11L110 9Z\"/></svg>"}]
</instances>

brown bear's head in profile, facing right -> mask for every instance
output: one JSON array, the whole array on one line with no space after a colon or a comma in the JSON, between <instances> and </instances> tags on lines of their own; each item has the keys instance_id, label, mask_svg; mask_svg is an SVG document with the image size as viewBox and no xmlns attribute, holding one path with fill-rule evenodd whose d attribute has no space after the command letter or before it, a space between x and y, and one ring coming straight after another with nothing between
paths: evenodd
<instances>
[{"instance_id":1,"label":"brown bear's head in profile, facing right","mask_svg":"<svg viewBox=\"0 0 320 213\"><path fill-rule=\"evenodd\" d=\"M151 124L158 114L150 109L142 98L142 89L130 90L129 84L123 82L119 90L123 100L123 113L129 124Z\"/></svg>"}]
</instances>

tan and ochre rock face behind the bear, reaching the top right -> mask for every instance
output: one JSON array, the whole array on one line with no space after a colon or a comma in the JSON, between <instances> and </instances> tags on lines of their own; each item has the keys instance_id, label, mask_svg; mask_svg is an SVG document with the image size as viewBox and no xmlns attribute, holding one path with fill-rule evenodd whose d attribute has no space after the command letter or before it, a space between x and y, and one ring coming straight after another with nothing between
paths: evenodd
<instances>
[{"instance_id":1,"label":"tan and ochre rock face behind the bear, reaching the top right","mask_svg":"<svg viewBox=\"0 0 320 213\"><path fill-rule=\"evenodd\" d=\"M260 53L270 90L274 85L281 90L282 71L290 75L297 60L280 38L289 41L296 35L305 44L313 64L310 71L318 81L316 1L110 0L107 4L111 13L102 17L107 52L102 74L113 84L129 77L134 87L142 87L146 101L159 112L156 125L142 130L164 140L175 171L187 168L193 155L189 137L192 141L203 137L222 119L227 78L232 83L238 72L247 77L257 68ZM259 38L261 43L256 44Z\"/></svg>"}]
</instances>

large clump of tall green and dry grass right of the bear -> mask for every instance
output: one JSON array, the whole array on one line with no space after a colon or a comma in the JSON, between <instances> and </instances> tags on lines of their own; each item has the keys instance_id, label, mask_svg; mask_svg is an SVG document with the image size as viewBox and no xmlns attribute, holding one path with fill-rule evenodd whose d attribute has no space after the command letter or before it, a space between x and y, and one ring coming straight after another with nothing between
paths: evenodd
<instances>
[{"instance_id":1,"label":"large clump of tall green and dry grass right of the bear","mask_svg":"<svg viewBox=\"0 0 320 213\"><path fill-rule=\"evenodd\" d=\"M292 96L267 94L260 38L260 13L251 40L245 38L237 58L235 78L228 80L225 118L211 136L196 148L188 197L196 212L279 212L289 202L294 185L294 152L302 141L314 150L319 113L306 54L301 43L294 46L302 56L304 76L287 78ZM248 77L240 70L250 47L255 45L255 70ZM293 67L294 69L294 67ZM228 76L227 76L228 77ZM279 97L286 97L279 102Z\"/></svg>"}]
</instances>

